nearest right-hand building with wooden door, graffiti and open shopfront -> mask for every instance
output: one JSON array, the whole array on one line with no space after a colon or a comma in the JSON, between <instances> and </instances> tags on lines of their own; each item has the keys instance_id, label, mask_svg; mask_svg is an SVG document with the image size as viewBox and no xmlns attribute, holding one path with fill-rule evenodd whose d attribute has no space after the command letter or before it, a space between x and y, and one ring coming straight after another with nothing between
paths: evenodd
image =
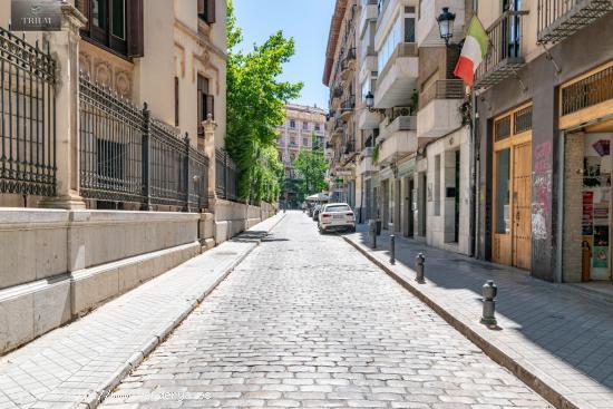
<instances>
[{"instance_id":1,"label":"nearest right-hand building with wooden door, graffiti and open shopfront","mask_svg":"<svg viewBox=\"0 0 613 409\"><path fill-rule=\"evenodd\" d=\"M613 6L479 2L478 256L555 282L611 281Z\"/></svg>"}]
</instances>

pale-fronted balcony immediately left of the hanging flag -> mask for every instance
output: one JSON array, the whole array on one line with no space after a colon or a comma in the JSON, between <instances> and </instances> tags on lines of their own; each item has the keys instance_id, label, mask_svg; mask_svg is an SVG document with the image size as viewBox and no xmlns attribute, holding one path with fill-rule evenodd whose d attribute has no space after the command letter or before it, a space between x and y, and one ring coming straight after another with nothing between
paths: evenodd
<instances>
[{"instance_id":1,"label":"pale-fronted balcony immediately left of the hanging flag","mask_svg":"<svg viewBox=\"0 0 613 409\"><path fill-rule=\"evenodd\" d=\"M438 138L461 125L459 107L465 89L461 79L437 80L421 94L417 113L417 136Z\"/></svg>"}]
</instances>

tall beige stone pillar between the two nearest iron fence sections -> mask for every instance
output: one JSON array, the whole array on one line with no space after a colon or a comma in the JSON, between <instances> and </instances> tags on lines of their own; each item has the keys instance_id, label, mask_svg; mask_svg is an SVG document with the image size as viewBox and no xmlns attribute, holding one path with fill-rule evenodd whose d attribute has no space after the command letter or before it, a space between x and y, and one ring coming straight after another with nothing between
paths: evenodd
<instances>
[{"instance_id":1,"label":"tall beige stone pillar between the two nearest iron fence sections","mask_svg":"<svg viewBox=\"0 0 613 409\"><path fill-rule=\"evenodd\" d=\"M61 4L61 31L46 33L56 72L57 196L41 207L85 208L79 195L79 30L87 19L69 3Z\"/></svg>"}]
</instances>

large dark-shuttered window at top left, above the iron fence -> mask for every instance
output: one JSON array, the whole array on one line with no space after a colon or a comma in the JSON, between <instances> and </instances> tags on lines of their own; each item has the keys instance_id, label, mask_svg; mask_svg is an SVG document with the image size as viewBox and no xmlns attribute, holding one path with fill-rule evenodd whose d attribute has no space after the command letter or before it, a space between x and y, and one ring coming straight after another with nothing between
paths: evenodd
<instances>
[{"instance_id":1,"label":"large dark-shuttered window at top left, above the iron fence","mask_svg":"<svg viewBox=\"0 0 613 409\"><path fill-rule=\"evenodd\" d=\"M85 38L126 57L144 56L143 0L79 0Z\"/></svg>"}]
</instances>

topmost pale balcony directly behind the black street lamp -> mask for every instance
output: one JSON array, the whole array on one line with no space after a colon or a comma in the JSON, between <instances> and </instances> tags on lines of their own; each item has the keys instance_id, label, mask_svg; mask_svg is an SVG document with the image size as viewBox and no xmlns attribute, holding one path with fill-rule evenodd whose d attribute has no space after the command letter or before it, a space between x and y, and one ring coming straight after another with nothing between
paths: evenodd
<instances>
[{"instance_id":1,"label":"topmost pale balcony directly behind the black street lamp","mask_svg":"<svg viewBox=\"0 0 613 409\"><path fill-rule=\"evenodd\" d=\"M428 0L421 1L419 20L417 20L417 43L419 47L444 47L445 41L440 38L437 17L444 7L448 7L450 12L456 13L454 25L454 39L464 38L464 11L465 0Z\"/></svg>"}]
</instances>

